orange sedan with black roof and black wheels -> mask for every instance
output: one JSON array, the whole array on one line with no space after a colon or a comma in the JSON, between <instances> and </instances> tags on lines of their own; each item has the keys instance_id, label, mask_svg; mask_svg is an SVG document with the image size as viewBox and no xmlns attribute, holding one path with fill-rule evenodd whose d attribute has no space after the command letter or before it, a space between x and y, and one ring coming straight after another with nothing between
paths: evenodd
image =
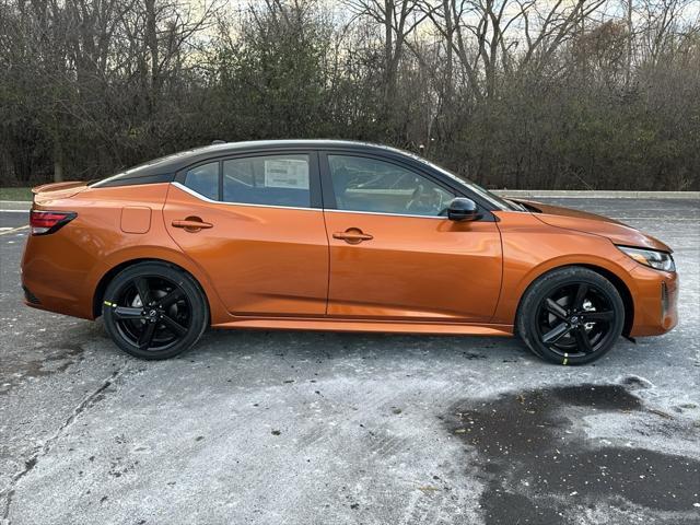
<instances>
[{"instance_id":1,"label":"orange sedan with black roof and black wheels","mask_svg":"<svg viewBox=\"0 0 700 525\"><path fill-rule=\"evenodd\" d=\"M219 143L34 189L30 306L165 359L208 326L518 335L591 362L677 323L662 242L361 142Z\"/></svg>"}]
</instances>

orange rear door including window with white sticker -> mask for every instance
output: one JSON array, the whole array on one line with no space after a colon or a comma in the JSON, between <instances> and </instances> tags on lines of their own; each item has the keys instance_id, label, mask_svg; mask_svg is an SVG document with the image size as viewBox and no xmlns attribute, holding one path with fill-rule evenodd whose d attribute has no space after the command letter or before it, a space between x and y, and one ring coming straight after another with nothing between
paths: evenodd
<instances>
[{"instance_id":1,"label":"orange rear door including window with white sticker","mask_svg":"<svg viewBox=\"0 0 700 525\"><path fill-rule=\"evenodd\" d=\"M231 314L325 314L328 241L316 152L211 160L176 180L166 228Z\"/></svg>"}]
</instances>

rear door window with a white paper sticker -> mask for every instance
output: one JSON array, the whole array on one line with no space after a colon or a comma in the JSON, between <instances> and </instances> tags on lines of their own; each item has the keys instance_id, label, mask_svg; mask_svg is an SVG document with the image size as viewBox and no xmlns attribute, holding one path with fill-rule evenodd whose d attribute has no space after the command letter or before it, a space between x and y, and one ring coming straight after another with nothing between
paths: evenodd
<instances>
[{"instance_id":1,"label":"rear door window with a white paper sticker","mask_svg":"<svg viewBox=\"0 0 700 525\"><path fill-rule=\"evenodd\" d=\"M308 208L308 155L267 155L223 162L223 200Z\"/></svg>"}]
</instances>

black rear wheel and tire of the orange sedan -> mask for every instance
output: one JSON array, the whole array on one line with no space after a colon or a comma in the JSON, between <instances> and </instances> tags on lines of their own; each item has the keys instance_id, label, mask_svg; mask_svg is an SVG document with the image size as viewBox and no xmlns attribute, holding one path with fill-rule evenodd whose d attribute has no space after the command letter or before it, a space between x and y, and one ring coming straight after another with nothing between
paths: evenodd
<instances>
[{"instance_id":1,"label":"black rear wheel and tire of the orange sedan","mask_svg":"<svg viewBox=\"0 0 700 525\"><path fill-rule=\"evenodd\" d=\"M209 325L207 299L197 281L165 262L139 262L117 273L105 290L102 314L121 350L151 360L188 350Z\"/></svg>"}]
</instances>

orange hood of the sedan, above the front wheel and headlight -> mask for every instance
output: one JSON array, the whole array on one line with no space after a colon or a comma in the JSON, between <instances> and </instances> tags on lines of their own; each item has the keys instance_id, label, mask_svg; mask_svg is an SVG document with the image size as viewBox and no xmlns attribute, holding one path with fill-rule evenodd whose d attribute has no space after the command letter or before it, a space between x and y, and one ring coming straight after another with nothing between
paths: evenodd
<instances>
[{"instance_id":1,"label":"orange hood of the sedan, above the front wheel and headlight","mask_svg":"<svg viewBox=\"0 0 700 525\"><path fill-rule=\"evenodd\" d=\"M578 232L592 233L609 238L615 244L623 246L637 246L642 248L673 252L666 244L657 238L646 235L639 230L628 226L614 219L596 215L585 211L572 210L561 206L545 205L542 202L518 200L530 209L539 210L533 213L545 224L557 228L565 228Z\"/></svg>"}]
</instances>

